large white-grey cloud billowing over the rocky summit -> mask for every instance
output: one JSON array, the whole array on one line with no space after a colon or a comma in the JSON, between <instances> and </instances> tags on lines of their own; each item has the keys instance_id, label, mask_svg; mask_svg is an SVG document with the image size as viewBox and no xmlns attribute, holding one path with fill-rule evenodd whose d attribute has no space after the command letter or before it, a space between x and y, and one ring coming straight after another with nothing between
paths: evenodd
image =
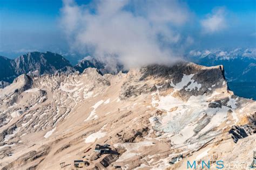
<instances>
[{"instance_id":1,"label":"large white-grey cloud billowing over the rocky summit","mask_svg":"<svg viewBox=\"0 0 256 170\"><path fill-rule=\"evenodd\" d=\"M62 26L73 49L112 65L121 62L125 68L173 63L179 58L171 47L184 38L171 28L187 22L186 4L175 0L106 0L86 5L66 0L63 4Z\"/></svg>"}]
</instances>

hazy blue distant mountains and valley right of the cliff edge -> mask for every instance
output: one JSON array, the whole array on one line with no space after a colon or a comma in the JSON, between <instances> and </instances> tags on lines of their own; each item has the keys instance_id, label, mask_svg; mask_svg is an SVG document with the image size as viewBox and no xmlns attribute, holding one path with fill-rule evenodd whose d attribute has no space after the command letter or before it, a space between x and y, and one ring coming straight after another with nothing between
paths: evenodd
<instances>
[{"instance_id":1,"label":"hazy blue distant mountains and valley right of the cliff edge","mask_svg":"<svg viewBox=\"0 0 256 170\"><path fill-rule=\"evenodd\" d=\"M256 100L256 49L190 51L186 59L204 66L223 65L228 87L241 97Z\"/></svg>"}]
</instances>

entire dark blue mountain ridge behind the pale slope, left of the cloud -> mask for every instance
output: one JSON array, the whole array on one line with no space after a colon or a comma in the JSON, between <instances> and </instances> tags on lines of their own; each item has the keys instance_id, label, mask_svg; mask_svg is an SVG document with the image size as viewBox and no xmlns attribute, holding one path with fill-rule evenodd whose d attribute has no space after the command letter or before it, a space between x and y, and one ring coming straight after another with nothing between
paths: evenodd
<instances>
[{"instance_id":1,"label":"entire dark blue mountain ridge behind the pale slope, left of the cloud","mask_svg":"<svg viewBox=\"0 0 256 170\"><path fill-rule=\"evenodd\" d=\"M116 71L107 68L105 63L94 58L80 60L77 65L72 66L62 55L46 52L31 52L11 60L0 56L0 81L3 88L12 83L21 74L43 75L54 73L82 73L86 68L97 68L102 74L117 74L123 66L118 65Z\"/></svg>"}]
</instances>

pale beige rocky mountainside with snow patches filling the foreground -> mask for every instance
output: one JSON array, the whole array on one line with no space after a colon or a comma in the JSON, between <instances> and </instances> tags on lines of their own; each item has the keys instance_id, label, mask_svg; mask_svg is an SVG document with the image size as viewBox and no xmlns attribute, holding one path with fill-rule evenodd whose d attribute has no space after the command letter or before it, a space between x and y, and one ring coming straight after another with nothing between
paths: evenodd
<instances>
[{"instance_id":1,"label":"pale beige rocky mountainside with snow patches filling the foreground","mask_svg":"<svg viewBox=\"0 0 256 170\"><path fill-rule=\"evenodd\" d=\"M256 102L228 90L223 66L152 65L117 75L21 75L0 89L3 169L186 169L252 161ZM109 144L111 153L93 152ZM117 154L118 153L118 154ZM183 159L169 161L183 154Z\"/></svg>"}]
</instances>

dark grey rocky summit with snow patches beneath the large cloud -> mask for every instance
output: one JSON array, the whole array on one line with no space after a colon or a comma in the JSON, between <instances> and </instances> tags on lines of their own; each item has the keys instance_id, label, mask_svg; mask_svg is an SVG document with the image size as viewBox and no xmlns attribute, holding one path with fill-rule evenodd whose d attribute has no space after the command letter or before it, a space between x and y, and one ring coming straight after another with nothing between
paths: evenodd
<instances>
[{"instance_id":1,"label":"dark grey rocky summit with snow patches beneath the large cloud","mask_svg":"<svg viewBox=\"0 0 256 170\"><path fill-rule=\"evenodd\" d=\"M175 95L183 100L192 95L211 94L214 89L228 93L223 66L205 67L191 62L179 62L172 66L150 65L130 70L120 98L150 93L157 89L155 84L160 91L176 88Z\"/></svg>"}]
</instances>

